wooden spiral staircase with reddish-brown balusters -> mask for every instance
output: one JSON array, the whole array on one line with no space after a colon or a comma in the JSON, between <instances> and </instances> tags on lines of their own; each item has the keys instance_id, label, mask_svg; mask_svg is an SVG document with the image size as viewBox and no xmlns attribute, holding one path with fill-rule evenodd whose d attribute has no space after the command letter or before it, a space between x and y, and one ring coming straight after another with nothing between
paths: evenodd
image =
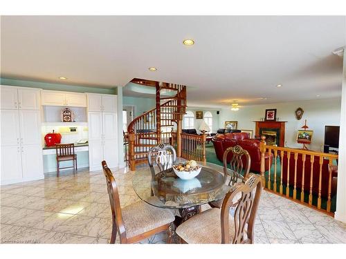
<instances>
[{"instance_id":1,"label":"wooden spiral staircase with reddish-brown balusters","mask_svg":"<svg viewBox=\"0 0 346 259\"><path fill-rule=\"evenodd\" d=\"M180 155L186 86L145 79L132 79L131 82L156 88L156 107L136 117L127 127L129 166L134 171L138 164L147 163L149 149L157 144L176 143L176 152ZM174 133L173 128L176 128Z\"/></svg>"}]
</instances>

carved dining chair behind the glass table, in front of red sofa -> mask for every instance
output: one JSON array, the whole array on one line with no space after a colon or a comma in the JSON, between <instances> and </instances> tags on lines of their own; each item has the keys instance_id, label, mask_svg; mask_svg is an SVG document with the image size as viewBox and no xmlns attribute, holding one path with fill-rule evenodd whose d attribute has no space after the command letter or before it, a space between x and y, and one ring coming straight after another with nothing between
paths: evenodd
<instances>
[{"instance_id":1,"label":"carved dining chair behind the glass table, in front of red sofa","mask_svg":"<svg viewBox=\"0 0 346 259\"><path fill-rule=\"evenodd\" d=\"M228 169L227 158L228 154L231 153L232 157L230 159L230 167ZM229 186L232 186L238 180L244 182L248 178L251 167L251 157L242 146L230 146L224 152L224 175L226 182ZM209 202L210 207L212 208L221 208L222 202L224 200L216 200Z\"/></svg>"}]
</instances>

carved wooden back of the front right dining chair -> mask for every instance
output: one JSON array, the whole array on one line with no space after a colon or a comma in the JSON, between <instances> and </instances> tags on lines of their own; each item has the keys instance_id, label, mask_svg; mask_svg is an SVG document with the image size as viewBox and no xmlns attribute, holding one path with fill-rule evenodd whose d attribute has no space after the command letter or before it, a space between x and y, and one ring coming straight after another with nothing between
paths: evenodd
<instances>
[{"instance_id":1,"label":"carved wooden back of the front right dining chair","mask_svg":"<svg viewBox=\"0 0 346 259\"><path fill-rule=\"evenodd\" d=\"M246 182L237 182L227 193L221 207L221 242L243 244L254 241L255 218L262 192L261 175L251 173ZM235 234L230 240L230 208L235 207Z\"/></svg>"}]
</instances>

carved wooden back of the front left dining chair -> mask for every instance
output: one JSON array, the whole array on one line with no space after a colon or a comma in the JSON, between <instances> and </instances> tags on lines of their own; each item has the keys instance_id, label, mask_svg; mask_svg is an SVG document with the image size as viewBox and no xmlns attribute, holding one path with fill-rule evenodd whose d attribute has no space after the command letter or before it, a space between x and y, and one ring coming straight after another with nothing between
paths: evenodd
<instances>
[{"instance_id":1,"label":"carved wooden back of the front left dining chair","mask_svg":"<svg viewBox=\"0 0 346 259\"><path fill-rule=\"evenodd\" d=\"M102 169L107 182L107 191L109 195L109 202L111 204L113 228L116 227L116 231L118 231L118 233L120 234L120 241L123 242L124 240L126 240L126 231L124 223L122 221L118 186L116 185L116 180L113 177L113 173L111 173L111 170L108 168L106 161L102 161Z\"/></svg>"}]
</instances>

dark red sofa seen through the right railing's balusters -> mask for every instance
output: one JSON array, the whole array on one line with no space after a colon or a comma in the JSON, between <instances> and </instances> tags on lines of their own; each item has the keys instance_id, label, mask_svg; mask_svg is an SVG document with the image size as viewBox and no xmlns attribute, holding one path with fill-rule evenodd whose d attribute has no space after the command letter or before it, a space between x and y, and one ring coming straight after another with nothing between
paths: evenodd
<instances>
[{"instance_id":1,"label":"dark red sofa seen through the right railing's balusters","mask_svg":"<svg viewBox=\"0 0 346 259\"><path fill-rule=\"evenodd\" d=\"M289 185L294 186L294 172L295 172L295 159L294 154L291 153L289 162L287 161L287 153L284 153L282 160L282 183L287 184L287 165L289 164ZM324 159L322 163L322 181L321 181L321 196L328 198L328 183L329 183L329 160ZM296 188L302 188L302 154L298 154L297 157L297 180ZM313 160L313 184L312 184L312 193L318 195L318 184L320 180L320 157L316 156ZM306 155L305 158L305 169L304 169L304 191L310 190L310 175L311 175L311 157ZM335 166L332 166L331 170L331 195L333 196L336 193L336 180L338 177L338 169ZM280 179L280 175L277 175L277 178Z\"/></svg>"}]
</instances>

